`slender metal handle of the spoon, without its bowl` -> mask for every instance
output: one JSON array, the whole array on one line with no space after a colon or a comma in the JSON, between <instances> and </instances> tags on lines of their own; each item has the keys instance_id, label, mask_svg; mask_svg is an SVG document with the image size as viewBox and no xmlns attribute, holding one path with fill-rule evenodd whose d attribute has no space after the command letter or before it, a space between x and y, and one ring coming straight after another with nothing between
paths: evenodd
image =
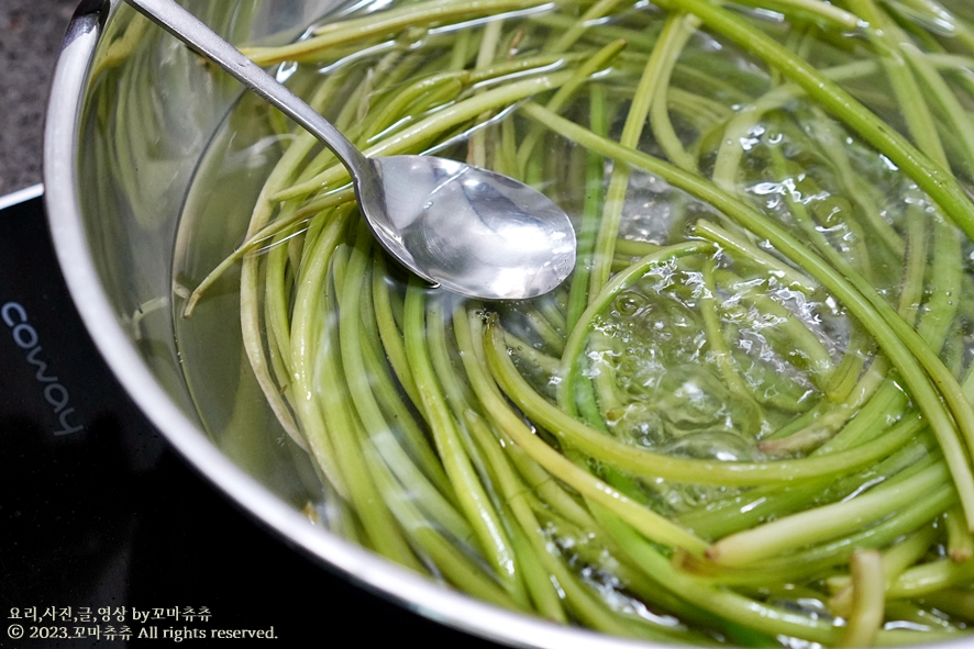
<instances>
[{"instance_id":1,"label":"slender metal handle of the spoon, without its bowl","mask_svg":"<svg viewBox=\"0 0 974 649\"><path fill-rule=\"evenodd\" d=\"M353 176L368 172L368 158L331 122L174 0L126 1L321 139Z\"/></svg>"}]
</instances>

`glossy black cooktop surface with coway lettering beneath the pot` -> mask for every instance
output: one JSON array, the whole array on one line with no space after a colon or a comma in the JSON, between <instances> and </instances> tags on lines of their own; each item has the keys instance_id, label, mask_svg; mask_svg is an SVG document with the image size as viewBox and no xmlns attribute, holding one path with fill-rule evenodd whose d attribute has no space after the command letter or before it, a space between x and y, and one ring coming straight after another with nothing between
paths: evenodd
<instances>
[{"instance_id":1,"label":"glossy black cooktop surface with coway lettering beneath the pot","mask_svg":"<svg viewBox=\"0 0 974 649\"><path fill-rule=\"evenodd\" d=\"M0 210L0 647L494 647L350 585L173 451L88 338L40 198Z\"/></svg>"}]
</instances>

